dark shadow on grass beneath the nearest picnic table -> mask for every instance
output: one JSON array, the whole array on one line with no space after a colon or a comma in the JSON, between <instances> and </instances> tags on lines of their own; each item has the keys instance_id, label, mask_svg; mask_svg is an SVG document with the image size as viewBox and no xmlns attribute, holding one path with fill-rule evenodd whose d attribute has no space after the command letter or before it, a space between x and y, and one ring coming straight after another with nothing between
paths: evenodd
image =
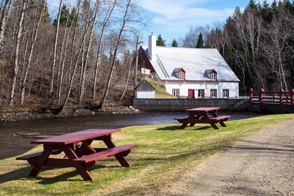
<instances>
[{"instance_id":1,"label":"dark shadow on grass beneath the nearest picnic table","mask_svg":"<svg viewBox=\"0 0 294 196\"><path fill-rule=\"evenodd\" d=\"M96 170L96 169L101 169L101 168L119 168L122 166L103 166L103 165L95 165L93 168L87 168L87 170L91 173L91 171ZM40 176L28 176L29 172L33 166L27 166L25 168L21 168L18 170L14 170L12 172L8 172L5 174L0 175L0 184L9 182L9 181L14 181L14 180L40 180L39 184L52 184L56 183L58 181L83 181L83 178L79 175L79 173L74 170L72 172L65 172L57 176L53 177L40 177ZM61 167L46 167L44 166L41 170L40 173L49 171L49 170L57 170L57 169L62 169ZM39 174L40 174L39 173ZM74 176L80 176L80 179L69 179ZM22 179L23 178L23 179Z\"/></svg>"}]
</instances>

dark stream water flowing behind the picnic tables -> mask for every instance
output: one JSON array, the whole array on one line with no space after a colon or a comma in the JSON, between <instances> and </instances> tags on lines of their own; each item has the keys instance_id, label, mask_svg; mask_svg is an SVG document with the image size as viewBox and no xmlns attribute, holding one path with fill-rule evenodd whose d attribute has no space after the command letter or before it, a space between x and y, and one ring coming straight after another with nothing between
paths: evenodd
<instances>
[{"instance_id":1,"label":"dark stream water flowing behind the picnic tables","mask_svg":"<svg viewBox=\"0 0 294 196\"><path fill-rule=\"evenodd\" d=\"M220 112L219 115L230 115L228 121L261 116L259 113ZM30 144L36 138L24 137L20 133L39 133L54 135L71 133L89 128L117 129L132 125L154 125L178 123L174 118L185 118L187 113L133 113L101 114L68 118L35 119L26 121L0 122L0 159L13 157L26 152L36 145Z\"/></svg>"}]
</instances>

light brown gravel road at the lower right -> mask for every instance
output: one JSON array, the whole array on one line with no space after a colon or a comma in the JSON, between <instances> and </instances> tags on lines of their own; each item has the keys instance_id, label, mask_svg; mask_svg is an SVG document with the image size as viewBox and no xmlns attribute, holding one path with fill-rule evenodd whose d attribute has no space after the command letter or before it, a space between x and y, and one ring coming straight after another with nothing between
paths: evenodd
<instances>
[{"instance_id":1,"label":"light brown gravel road at the lower right","mask_svg":"<svg viewBox=\"0 0 294 196\"><path fill-rule=\"evenodd\" d=\"M250 136L184 177L177 196L294 196L294 121Z\"/></svg>"}]
</instances>

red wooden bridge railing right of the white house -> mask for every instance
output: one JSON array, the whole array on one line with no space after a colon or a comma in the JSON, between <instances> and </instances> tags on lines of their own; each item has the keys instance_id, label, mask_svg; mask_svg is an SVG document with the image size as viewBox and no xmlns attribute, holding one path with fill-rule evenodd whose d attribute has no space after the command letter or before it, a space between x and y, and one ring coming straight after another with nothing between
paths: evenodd
<instances>
[{"instance_id":1,"label":"red wooden bridge railing right of the white house","mask_svg":"<svg viewBox=\"0 0 294 196\"><path fill-rule=\"evenodd\" d=\"M283 89L280 91L264 91L260 89L259 91L253 91L251 88L249 90L250 104L259 103L273 103L273 104L291 104L291 108L294 106L294 89L290 92L284 92Z\"/></svg>"}]
</instances>

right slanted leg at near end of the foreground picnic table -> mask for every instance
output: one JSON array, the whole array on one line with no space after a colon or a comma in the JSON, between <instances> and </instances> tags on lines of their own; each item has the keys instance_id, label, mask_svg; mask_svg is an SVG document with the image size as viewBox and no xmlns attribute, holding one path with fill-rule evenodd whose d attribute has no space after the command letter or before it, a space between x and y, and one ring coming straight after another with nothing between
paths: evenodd
<instances>
[{"instance_id":1,"label":"right slanted leg at near end of the foreground picnic table","mask_svg":"<svg viewBox=\"0 0 294 196\"><path fill-rule=\"evenodd\" d=\"M63 151L71 160L78 158L78 156L74 153L73 149L69 146L65 146ZM74 167L84 180L94 180L90 172L88 172L81 163L77 163Z\"/></svg>"}]
</instances>

